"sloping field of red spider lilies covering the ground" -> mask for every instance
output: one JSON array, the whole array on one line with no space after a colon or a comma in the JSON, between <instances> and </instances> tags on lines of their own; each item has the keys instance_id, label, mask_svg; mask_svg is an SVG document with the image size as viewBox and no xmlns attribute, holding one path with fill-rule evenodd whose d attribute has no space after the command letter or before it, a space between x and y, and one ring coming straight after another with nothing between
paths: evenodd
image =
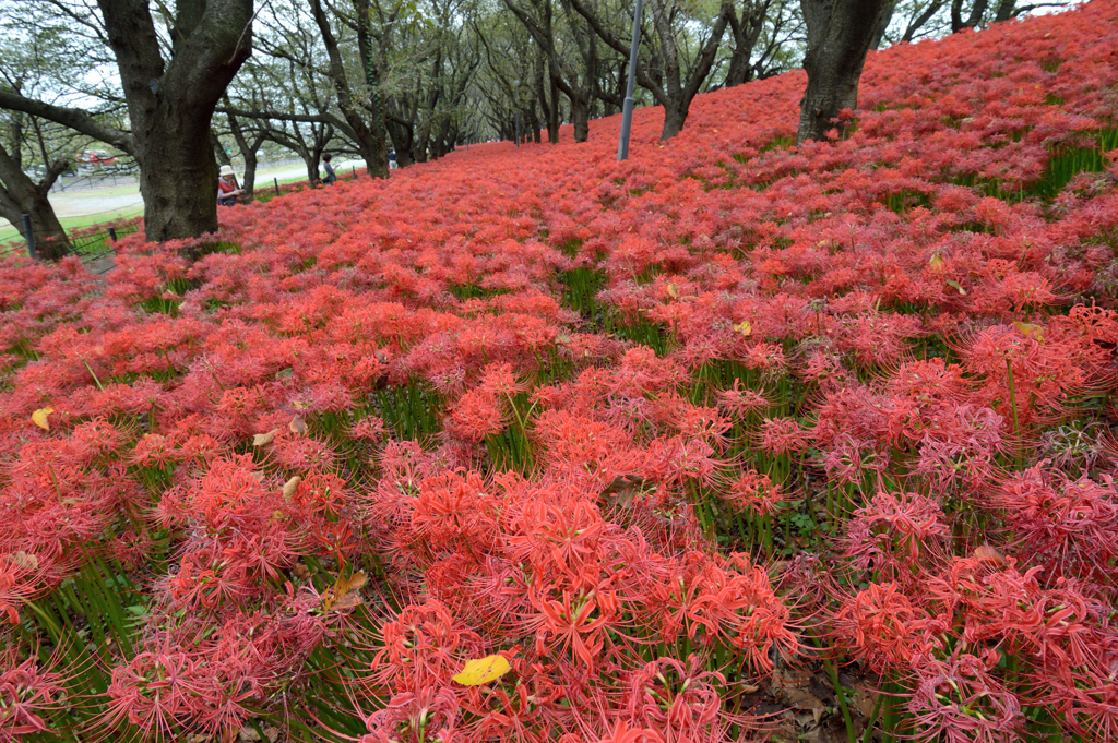
<instances>
[{"instance_id":1,"label":"sloping field of red spider lilies covering the ground","mask_svg":"<svg viewBox=\"0 0 1118 743\"><path fill-rule=\"evenodd\" d=\"M1118 741L1118 2L0 265L0 741Z\"/></svg>"}]
</instances>

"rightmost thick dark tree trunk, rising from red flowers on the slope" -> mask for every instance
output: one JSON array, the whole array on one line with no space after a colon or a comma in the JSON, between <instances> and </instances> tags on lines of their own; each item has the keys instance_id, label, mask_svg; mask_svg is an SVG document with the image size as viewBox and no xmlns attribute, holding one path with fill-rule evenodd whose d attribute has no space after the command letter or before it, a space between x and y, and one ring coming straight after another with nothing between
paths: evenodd
<instances>
[{"instance_id":1,"label":"rightmost thick dark tree trunk, rising from red flowers on the slope","mask_svg":"<svg viewBox=\"0 0 1118 743\"><path fill-rule=\"evenodd\" d=\"M844 108L858 107L858 83L888 0L800 0L807 22L807 91L796 144L821 141Z\"/></svg>"}]
</instances>

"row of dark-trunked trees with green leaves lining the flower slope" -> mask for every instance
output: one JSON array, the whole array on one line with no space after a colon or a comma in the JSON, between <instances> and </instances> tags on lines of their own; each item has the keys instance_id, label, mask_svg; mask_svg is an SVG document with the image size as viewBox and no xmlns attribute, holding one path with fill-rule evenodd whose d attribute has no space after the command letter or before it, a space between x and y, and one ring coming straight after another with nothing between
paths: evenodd
<instances>
[{"instance_id":1,"label":"row of dark-trunked trees with green leaves lining the flower slope","mask_svg":"<svg viewBox=\"0 0 1118 743\"><path fill-rule=\"evenodd\" d=\"M1050 3L1042 3L1048 6ZM865 51L1034 10L1018 0L646 0L637 105L662 136L703 91L808 72L799 141L856 102ZM326 151L372 177L620 111L632 0L0 0L0 216L65 232L47 191L89 142L135 159L151 240L217 229L218 165ZM49 249L49 248L48 248Z\"/></svg>"}]
</instances>

